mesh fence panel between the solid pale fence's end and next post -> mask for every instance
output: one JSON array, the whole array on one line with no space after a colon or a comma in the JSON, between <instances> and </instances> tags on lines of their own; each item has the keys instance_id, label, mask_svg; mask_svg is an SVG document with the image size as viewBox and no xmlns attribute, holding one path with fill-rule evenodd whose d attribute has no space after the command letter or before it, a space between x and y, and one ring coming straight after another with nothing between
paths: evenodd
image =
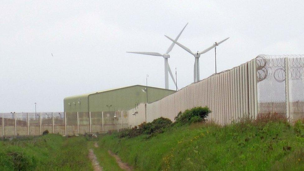
<instances>
[{"instance_id":1,"label":"mesh fence panel between the solid pale fence's end and next post","mask_svg":"<svg viewBox=\"0 0 304 171\"><path fill-rule=\"evenodd\" d=\"M256 58L258 114L286 115L285 58L259 55Z\"/></svg>"}]
</instances>

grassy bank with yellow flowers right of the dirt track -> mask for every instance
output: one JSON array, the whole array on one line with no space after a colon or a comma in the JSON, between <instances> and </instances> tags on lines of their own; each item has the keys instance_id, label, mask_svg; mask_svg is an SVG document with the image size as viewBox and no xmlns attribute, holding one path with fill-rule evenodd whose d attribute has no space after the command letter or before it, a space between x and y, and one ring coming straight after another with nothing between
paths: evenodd
<instances>
[{"instance_id":1,"label":"grassy bank with yellow flowers right of the dirt track","mask_svg":"<svg viewBox=\"0 0 304 171\"><path fill-rule=\"evenodd\" d=\"M154 136L113 133L99 145L138 170L304 170L303 131L303 122L260 118L173 126Z\"/></svg>"}]
</instances>

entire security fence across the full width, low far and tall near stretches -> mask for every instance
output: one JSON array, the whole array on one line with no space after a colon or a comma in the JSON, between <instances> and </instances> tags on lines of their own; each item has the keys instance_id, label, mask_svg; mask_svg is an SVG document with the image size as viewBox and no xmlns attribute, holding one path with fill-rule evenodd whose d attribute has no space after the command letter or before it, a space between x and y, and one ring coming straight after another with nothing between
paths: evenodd
<instances>
[{"instance_id":1,"label":"entire security fence across the full width, low far and tall near stretches","mask_svg":"<svg viewBox=\"0 0 304 171\"><path fill-rule=\"evenodd\" d=\"M208 120L226 125L245 116L278 113L290 121L304 117L304 55L259 55L213 74L163 99L129 111L0 113L0 135L78 135L130 128L178 112L208 106Z\"/></svg>"}]
</instances>

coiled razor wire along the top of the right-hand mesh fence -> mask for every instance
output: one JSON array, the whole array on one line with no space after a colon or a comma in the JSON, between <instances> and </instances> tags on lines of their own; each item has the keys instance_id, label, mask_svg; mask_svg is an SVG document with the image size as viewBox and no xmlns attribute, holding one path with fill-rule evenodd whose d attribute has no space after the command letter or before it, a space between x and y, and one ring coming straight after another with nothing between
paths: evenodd
<instances>
[{"instance_id":1,"label":"coiled razor wire along the top of the right-hand mesh fence","mask_svg":"<svg viewBox=\"0 0 304 171\"><path fill-rule=\"evenodd\" d=\"M288 58L288 78L304 79L304 55L259 55L256 57L257 80L274 78L285 81L285 58Z\"/></svg>"}]
</instances>

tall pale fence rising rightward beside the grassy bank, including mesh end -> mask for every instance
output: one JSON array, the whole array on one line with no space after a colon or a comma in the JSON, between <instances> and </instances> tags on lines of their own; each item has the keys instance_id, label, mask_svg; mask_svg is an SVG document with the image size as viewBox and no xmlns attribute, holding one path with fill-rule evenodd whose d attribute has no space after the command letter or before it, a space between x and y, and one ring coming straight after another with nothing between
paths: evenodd
<instances>
[{"instance_id":1,"label":"tall pale fence rising rightward beside the grassy bank, including mesh end","mask_svg":"<svg viewBox=\"0 0 304 171\"><path fill-rule=\"evenodd\" d=\"M240 118L278 113L290 121L304 117L304 55L259 55L213 74L163 99L128 111L129 126L208 106L208 119L225 125Z\"/></svg>"}]
</instances>

